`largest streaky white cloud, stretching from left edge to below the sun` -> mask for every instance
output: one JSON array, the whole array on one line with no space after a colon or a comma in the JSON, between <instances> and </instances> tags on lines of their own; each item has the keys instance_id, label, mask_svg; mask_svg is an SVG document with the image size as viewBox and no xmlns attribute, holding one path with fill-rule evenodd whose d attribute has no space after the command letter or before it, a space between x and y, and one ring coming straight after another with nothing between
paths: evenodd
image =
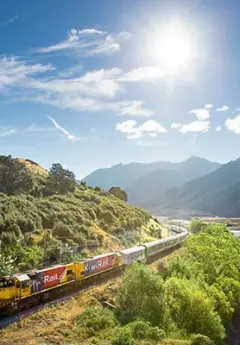
<instances>
[{"instance_id":1,"label":"largest streaky white cloud, stretching from left edge to below the sun","mask_svg":"<svg viewBox=\"0 0 240 345\"><path fill-rule=\"evenodd\" d=\"M75 111L111 111L120 115L152 116L142 100L114 100L124 94L118 82L124 72L118 68L83 73L78 77L59 77L54 66L28 63L17 58L0 59L0 92L14 101L32 101ZM77 69L79 71L79 69ZM40 74L51 72L47 77ZM66 71L65 71L66 72ZM128 72L127 72L128 73ZM70 71L71 74L71 71ZM106 99L111 99L111 101Z\"/></svg>"}]
</instances>

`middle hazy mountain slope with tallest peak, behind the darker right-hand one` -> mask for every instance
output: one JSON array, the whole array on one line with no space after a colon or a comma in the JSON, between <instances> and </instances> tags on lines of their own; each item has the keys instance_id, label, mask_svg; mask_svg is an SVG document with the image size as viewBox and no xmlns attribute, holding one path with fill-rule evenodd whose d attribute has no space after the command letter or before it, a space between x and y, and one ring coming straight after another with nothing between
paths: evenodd
<instances>
[{"instance_id":1,"label":"middle hazy mountain slope with tallest peak, behind the darker right-hand one","mask_svg":"<svg viewBox=\"0 0 240 345\"><path fill-rule=\"evenodd\" d=\"M128 186L126 190L129 201L147 208L153 207L164 202L169 190L181 187L184 183L209 174L219 167L219 163L194 156L181 163L172 163L169 170L154 170Z\"/></svg>"}]
</instances>

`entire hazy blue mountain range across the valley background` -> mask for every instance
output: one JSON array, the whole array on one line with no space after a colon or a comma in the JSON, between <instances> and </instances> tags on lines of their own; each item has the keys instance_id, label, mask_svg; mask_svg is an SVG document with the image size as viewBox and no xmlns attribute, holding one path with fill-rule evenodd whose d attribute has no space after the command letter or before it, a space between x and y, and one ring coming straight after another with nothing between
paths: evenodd
<instances>
[{"instance_id":1,"label":"entire hazy blue mountain range across the valley background","mask_svg":"<svg viewBox=\"0 0 240 345\"><path fill-rule=\"evenodd\" d=\"M124 188L130 203L155 214L190 212L236 216L240 215L239 168L240 160L221 165L192 156L180 163L118 164L96 170L84 180L90 186L103 189Z\"/></svg>"}]
</instances>

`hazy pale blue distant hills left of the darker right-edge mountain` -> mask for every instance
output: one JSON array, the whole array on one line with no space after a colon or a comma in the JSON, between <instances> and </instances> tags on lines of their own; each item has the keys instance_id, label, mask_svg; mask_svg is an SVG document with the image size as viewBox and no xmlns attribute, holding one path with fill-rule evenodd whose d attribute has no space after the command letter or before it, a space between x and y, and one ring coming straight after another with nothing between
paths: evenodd
<instances>
[{"instance_id":1,"label":"hazy pale blue distant hills left of the darker right-edge mountain","mask_svg":"<svg viewBox=\"0 0 240 345\"><path fill-rule=\"evenodd\" d=\"M162 203L162 198L169 189L181 187L191 179L211 173L220 166L219 163L192 156L180 163L160 161L118 164L98 169L84 180L93 187L124 188L130 203L149 207Z\"/></svg>"}]
</instances>

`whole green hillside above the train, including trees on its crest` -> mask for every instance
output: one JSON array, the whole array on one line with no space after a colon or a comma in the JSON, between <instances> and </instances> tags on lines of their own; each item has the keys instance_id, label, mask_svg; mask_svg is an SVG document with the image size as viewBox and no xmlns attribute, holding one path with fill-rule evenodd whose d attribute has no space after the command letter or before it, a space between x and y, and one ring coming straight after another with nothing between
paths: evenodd
<instances>
[{"instance_id":1,"label":"whole green hillside above the train, including trees on its crest","mask_svg":"<svg viewBox=\"0 0 240 345\"><path fill-rule=\"evenodd\" d=\"M1 178L10 173L13 185L6 189ZM155 238L162 229L143 209L76 184L59 164L46 173L35 163L1 156L0 192L1 250L16 258L15 270L118 250Z\"/></svg>"}]
</instances>

